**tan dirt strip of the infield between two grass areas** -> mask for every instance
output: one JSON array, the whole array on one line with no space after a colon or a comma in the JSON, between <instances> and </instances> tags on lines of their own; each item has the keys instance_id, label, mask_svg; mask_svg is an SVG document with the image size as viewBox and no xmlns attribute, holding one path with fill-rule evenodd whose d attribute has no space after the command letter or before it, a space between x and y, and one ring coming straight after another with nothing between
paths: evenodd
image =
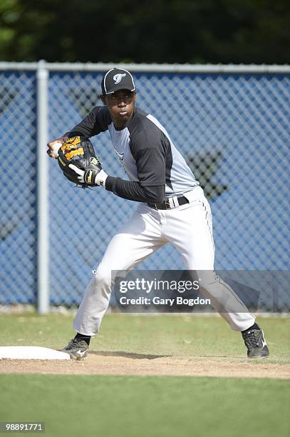
<instances>
[{"instance_id":1,"label":"tan dirt strip of the infield between two grass areas","mask_svg":"<svg viewBox=\"0 0 290 437\"><path fill-rule=\"evenodd\" d=\"M83 361L0 360L0 373L75 375L221 376L290 378L289 364L244 358L150 356L126 352L90 351Z\"/></svg>"}]
</instances>

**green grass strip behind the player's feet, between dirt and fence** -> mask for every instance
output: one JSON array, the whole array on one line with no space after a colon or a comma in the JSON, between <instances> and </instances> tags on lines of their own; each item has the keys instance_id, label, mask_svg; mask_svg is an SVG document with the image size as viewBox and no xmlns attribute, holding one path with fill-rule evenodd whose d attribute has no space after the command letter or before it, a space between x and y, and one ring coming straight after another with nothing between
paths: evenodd
<instances>
[{"instance_id":1,"label":"green grass strip behind the player's feet, between dirt and fence","mask_svg":"<svg viewBox=\"0 0 290 437\"><path fill-rule=\"evenodd\" d=\"M72 321L71 314L0 315L0 344L62 348L74 335ZM290 363L290 318L257 318L257 322L269 343L271 356L267 362ZM231 331L219 317L110 314L103 319L100 334L91 341L91 349L246 359L240 333Z\"/></svg>"}]
</instances>

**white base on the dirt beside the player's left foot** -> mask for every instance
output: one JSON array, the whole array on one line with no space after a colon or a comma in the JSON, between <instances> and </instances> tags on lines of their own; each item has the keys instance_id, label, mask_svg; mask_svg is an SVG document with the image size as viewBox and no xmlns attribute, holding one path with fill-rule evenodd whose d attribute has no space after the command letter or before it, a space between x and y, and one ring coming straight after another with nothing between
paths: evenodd
<instances>
[{"instance_id":1,"label":"white base on the dirt beside the player's left foot","mask_svg":"<svg viewBox=\"0 0 290 437\"><path fill-rule=\"evenodd\" d=\"M19 360L69 360L68 353L42 348L41 346L1 346L1 358Z\"/></svg>"}]
</instances>

